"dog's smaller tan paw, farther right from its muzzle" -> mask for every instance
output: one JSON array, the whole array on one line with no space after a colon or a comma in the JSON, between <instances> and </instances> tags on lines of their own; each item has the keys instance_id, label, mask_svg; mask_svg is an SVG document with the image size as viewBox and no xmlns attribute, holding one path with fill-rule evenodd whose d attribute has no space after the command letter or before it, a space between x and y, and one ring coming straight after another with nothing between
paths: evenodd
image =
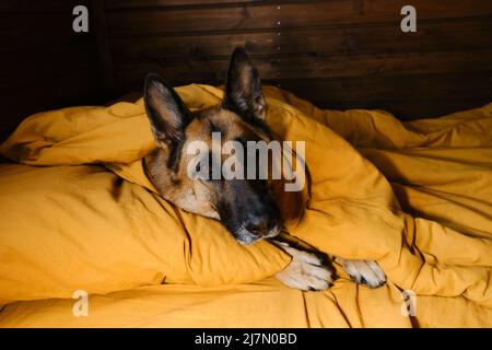
<instances>
[{"instance_id":1,"label":"dog's smaller tan paw, farther right from its muzzle","mask_svg":"<svg viewBox=\"0 0 492 350\"><path fill-rule=\"evenodd\" d=\"M378 288L386 283L386 276L376 261L372 260L347 260L337 258L350 279L359 284L370 288Z\"/></svg>"}]
</instances>

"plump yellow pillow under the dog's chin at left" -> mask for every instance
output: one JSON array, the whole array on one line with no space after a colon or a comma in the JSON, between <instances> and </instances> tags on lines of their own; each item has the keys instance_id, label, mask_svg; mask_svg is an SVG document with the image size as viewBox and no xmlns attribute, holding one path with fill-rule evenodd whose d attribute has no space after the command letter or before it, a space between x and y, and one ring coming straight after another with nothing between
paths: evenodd
<instances>
[{"instance_id":1,"label":"plump yellow pillow under the dog's chin at left","mask_svg":"<svg viewBox=\"0 0 492 350\"><path fill-rule=\"evenodd\" d=\"M242 246L103 166L0 166L0 302L145 284L261 280L290 260Z\"/></svg>"}]
</instances>

